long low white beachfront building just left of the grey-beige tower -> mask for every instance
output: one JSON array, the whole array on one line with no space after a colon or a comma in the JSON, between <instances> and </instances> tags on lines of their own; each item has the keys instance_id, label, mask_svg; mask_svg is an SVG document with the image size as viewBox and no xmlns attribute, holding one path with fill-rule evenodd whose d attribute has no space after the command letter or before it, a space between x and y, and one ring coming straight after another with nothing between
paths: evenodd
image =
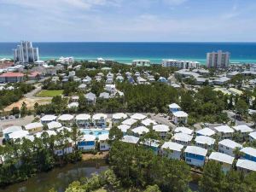
<instances>
[{"instance_id":1,"label":"long low white beachfront building just left of the grey-beige tower","mask_svg":"<svg viewBox=\"0 0 256 192\"><path fill-rule=\"evenodd\" d=\"M163 60L162 67L177 67L180 69L198 68L199 62L197 61L177 61L177 60Z\"/></svg>"}]
</instances>

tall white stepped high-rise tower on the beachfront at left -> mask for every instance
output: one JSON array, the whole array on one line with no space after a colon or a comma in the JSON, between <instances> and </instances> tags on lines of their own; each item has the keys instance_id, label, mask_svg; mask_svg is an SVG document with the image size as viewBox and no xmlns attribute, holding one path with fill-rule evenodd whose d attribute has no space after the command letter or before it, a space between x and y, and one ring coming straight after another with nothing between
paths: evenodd
<instances>
[{"instance_id":1,"label":"tall white stepped high-rise tower on the beachfront at left","mask_svg":"<svg viewBox=\"0 0 256 192\"><path fill-rule=\"evenodd\" d=\"M33 48L32 42L21 41L20 45L14 49L14 61L20 63L29 63L39 60L38 48Z\"/></svg>"}]
</instances>

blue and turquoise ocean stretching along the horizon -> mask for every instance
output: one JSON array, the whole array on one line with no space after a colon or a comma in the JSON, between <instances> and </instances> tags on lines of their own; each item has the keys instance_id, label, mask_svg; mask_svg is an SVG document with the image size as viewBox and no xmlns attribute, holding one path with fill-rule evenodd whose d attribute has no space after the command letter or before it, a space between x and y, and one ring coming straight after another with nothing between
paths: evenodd
<instances>
[{"instance_id":1,"label":"blue and turquoise ocean stretching along the horizon","mask_svg":"<svg viewBox=\"0 0 256 192\"><path fill-rule=\"evenodd\" d=\"M0 58L13 58L20 43L0 43ZM147 59L160 63L162 59L199 61L206 63L207 52L222 49L230 52L231 62L256 63L256 43L33 43L39 48L40 60L73 56L76 60L113 59L131 63Z\"/></svg>"}]
</instances>

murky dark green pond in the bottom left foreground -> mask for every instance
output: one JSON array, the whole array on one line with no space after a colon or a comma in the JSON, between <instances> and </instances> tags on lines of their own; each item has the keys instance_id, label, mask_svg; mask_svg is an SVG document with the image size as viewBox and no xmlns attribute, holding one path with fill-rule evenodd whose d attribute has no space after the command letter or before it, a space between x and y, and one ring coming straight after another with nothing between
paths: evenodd
<instances>
[{"instance_id":1,"label":"murky dark green pond in the bottom left foreground","mask_svg":"<svg viewBox=\"0 0 256 192\"><path fill-rule=\"evenodd\" d=\"M107 169L108 166L104 160L82 161L55 168L50 172L39 173L25 182L15 183L5 189L0 189L0 192L48 192L51 188L55 188L58 192L64 192L69 183Z\"/></svg>"}]
</instances>

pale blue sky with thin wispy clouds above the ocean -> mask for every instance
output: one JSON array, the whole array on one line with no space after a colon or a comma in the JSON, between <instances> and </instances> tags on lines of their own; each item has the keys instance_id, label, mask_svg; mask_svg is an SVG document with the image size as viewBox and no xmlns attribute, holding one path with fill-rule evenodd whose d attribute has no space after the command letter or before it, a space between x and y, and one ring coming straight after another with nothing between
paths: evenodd
<instances>
[{"instance_id":1,"label":"pale blue sky with thin wispy clouds above the ocean","mask_svg":"<svg viewBox=\"0 0 256 192\"><path fill-rule=\"evenodd\" d=\"M256 42L255 0L0 0L0 42Z\"/></svg>"}]
</instances>

